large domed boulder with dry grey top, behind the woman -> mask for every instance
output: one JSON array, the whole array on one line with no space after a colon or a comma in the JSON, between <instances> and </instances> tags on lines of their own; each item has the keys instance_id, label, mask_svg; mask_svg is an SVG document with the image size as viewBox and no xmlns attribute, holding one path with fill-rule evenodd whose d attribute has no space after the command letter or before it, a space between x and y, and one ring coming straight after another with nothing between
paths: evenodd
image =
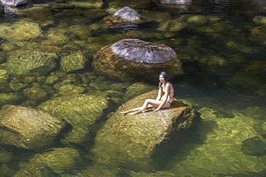
<instances>
[{"instance_id":1,"label":"large domed boulder with dry grey top, behind the woman","mask_svg":"<svg viewBox=\"0 0 266 177\"><path fill-rule=\"evenodd\" d=\"M158 80L162 71L170 77L182 75L182 66L175 51L164 44L154 44L140 39L123 39L104 46L93 58L99 72L123 80Z\"/></svg>"}]
</instances>

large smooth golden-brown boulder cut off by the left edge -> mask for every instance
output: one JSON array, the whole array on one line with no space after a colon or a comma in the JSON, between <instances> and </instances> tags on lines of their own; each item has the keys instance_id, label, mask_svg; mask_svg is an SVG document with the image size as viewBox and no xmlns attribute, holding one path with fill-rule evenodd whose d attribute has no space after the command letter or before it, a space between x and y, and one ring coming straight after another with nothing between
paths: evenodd
<instances>
[{"instance_id":1,"label":"large smooth golden-brown boulder cut off by the left edge","mask_svg":"<svg viewBox=\"0 0 266 177\"><path fill-rule=\"evenodd\" d=\"M0 110L1 144L37 149L52 145L66 122L44 111L5 105Z\"/></svg>"}]
</instances>

